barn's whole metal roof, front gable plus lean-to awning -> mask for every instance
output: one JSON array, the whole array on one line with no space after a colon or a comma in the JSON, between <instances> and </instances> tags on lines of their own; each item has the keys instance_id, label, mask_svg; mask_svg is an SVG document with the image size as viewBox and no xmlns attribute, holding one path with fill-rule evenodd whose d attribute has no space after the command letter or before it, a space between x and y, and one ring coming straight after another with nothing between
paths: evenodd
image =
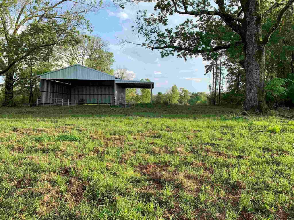
<instances>
[{"instance_id":1,"label":"barn's whole metal roof, front gable plus lean-to awning","mask_svg":"<svg viewBox=\"0 0 294 220\"><path fill-rule=\"evenodd\" d=\"M59 70L39 75L40 79L52 79L61 82L68 82L72 80L113 80L125 88L154 88L154 82L137 81L137 80L124 80L105 72L91 69L80 64L68 66Z\"/></svg>"}]
</instances>

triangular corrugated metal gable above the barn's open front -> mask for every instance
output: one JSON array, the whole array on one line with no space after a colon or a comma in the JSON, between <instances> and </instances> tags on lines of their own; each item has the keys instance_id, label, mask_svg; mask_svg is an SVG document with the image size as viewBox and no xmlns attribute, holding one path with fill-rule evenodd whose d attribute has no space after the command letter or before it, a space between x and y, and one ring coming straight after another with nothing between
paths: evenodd
<instances>
[{"instance_id":1,"label":"triangular corrugated metal gable above the barn's open front","mask_svg":"<svg viewBox=\"0 0 294 220\"><path fill-rule=\"evenodd\" d=\"M75 64L59 70L39 75L41 79L87 79L87 80L115 80L119 79L105 72Z\"/></svg>"}]
</instances>

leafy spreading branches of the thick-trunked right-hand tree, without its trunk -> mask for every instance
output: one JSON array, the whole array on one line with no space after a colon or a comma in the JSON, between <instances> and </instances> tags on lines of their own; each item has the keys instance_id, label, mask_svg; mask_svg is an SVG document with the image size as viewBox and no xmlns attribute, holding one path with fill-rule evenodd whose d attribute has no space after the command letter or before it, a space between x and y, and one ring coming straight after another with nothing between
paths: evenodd
<instances>
[{"instance_id":1,"label":"leafy spreading branches of the thick-trunked right-hand tree, without its trunk","mask_svg":"<svg viewBox=\"0 0 294 220\"><path fill-rule=\"evenodd\" d=\"M123 1L117 0L116 3L124 8L127 3L139 3L145 1ZM136 26L133 26L133 32L138 34L138 38L143 36L144 43L137 45L150 49L159 49L161 55L166 57L174 55L185 60L187 57L197 56L200 53L215 52L221 49L239 47L246 44L247 22L244 18L244 10L249 1L230 1L225 4L223 0L217 0L216 4L210 1L185 1L185 0L159 0L156 1L154 10L157 12L148 15L147 11L138 11L136 17ZM266 44L273 33L280 25L285 11L291 6L294 0L289 0L286 4L263 2L260 5L259 16L261 20L266 20L269 13L276 13L277 20L272 23L268 30L264 30L263 39L260 43ZM282 8L283 6L283 8ZM245 8L245 9L244 9ZM282 8L282 9L281 9ZM208 10L209 9L209 10ZM280 10L281 9L281 10ZM278 13L278 10L280 12ZM167 28L169 16L173 14L187 15L191 18L186 19L183 23L174 28ZM216 43L218 35L207 28L203 28L203 21L208 16L216 17L223 22L225 28L221 33L221 42ZM229 28L229 29L228 29ZM230 32L230 36L228 36ZM126 39L119 39L122 44L133 43Z\"/></svg>"}]
</instances>

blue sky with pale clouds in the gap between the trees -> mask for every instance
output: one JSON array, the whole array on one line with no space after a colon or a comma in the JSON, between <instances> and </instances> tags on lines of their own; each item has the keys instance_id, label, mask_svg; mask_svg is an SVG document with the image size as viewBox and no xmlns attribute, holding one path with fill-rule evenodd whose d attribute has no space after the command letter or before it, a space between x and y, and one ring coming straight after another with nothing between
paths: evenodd
<instances>
[{"instance_id":1,"label":"blue sky with pale clouds in the gap between the trees","mask_svg":"<svg viewBox=\"0 0 294 220\"><path fill-rule=\"evenodd\" d=\"M114 53L115 63L113 67L126 67L136 74L136 79L149 78L155 82L154 94L166 92L173 84L178 88L184 87L190 92L208 92L209 78L204 75L204 66L201 56L188 59L186 62L175 56L161 58L158 50L150 50L133 44L121 48L116 37L128 41L142 43L144 39L138 40L138 35L132 33L131 26L134 25L136 12L146 9L153 13L154 4L142 3L138 6L127 5L124 10L109 7L99 13L88 15L93 25L93 34L109 42L109 50ZM170 27L175 27L183 22L188 16L173 15Z\"/></svg>"}]
</instances>

